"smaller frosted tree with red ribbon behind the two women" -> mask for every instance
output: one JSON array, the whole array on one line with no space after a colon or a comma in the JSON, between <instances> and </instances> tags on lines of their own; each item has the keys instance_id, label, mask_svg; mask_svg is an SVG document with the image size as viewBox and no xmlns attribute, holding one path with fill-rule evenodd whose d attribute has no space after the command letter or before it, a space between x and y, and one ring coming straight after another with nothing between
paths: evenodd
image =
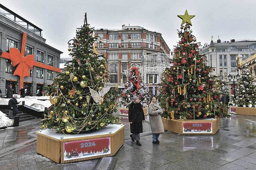
<instances>
[{"instance_id":1,"label":"smaller frosted tree with red ribbon behind the two women","mask_svg":"<svg viewBox=\"0 0 256 170\"><path fill-rule=\"evenodd\" d=\"M139 97L142 106L147 108L150 101L150 94L144 85L138 66L133 65L129 69L129 76L127 79L128 80L125 83L125 88L123 89L121 97L119 98L121 107L129 108L129 105L133 101L133 97L137 96Z\"/></svg>"}]
</instances>

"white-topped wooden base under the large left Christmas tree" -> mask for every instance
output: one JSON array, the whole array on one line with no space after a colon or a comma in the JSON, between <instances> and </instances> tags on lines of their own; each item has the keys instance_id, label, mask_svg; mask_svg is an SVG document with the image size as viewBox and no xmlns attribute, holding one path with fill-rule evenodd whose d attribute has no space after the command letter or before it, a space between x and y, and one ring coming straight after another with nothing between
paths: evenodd
<instances>
[{"instance_id":1,"label":"white-topped wooden base under the large left Christmas tree","mask_svg":"<svg viewBox=\"0 0 256 170\"><path fill-rule=\"evenodd\" d=\"M125 143L124 125L111 125L83 134L60 134L45 129L37 133L37 153L56 163L114 156Z\"/></svg>"}]
</instances>

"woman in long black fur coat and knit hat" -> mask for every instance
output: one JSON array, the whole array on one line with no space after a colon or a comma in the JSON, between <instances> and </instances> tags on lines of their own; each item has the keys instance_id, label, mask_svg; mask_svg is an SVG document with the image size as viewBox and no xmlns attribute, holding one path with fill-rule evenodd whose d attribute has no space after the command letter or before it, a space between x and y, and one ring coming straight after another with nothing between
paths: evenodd
<instances>
[{"instance_id":1,"label":"woman in long black fur coat and knit hat","mask_svg":"<svg viewBox=\"0 0 256 170\"><path fill-rule=\"evenodd\" d=\"M143 132L142 122L145 120L144 112L139 97L133 97L133 103L130 104L128 110L128 118L130 122L131 140L136 140L136 145L141 146L139 142L139 134Z\"/></svg>"}]
</instances>

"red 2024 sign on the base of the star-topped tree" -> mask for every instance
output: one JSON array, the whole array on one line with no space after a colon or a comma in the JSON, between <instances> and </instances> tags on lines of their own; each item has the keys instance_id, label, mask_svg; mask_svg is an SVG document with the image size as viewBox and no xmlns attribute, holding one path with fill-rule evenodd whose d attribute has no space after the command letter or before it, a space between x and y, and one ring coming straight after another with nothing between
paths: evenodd
<instances>
[{"instance_id":1,"label":"red 2024 sign on the base of the star-topped tree","mask_svg":"<svg viewBox=\"0 0 256 170\"><path fill-rule=\"evenodd\" d=\"M212 122L183 122L183 133L212 133Z\"/></svg>"}]
</instances>

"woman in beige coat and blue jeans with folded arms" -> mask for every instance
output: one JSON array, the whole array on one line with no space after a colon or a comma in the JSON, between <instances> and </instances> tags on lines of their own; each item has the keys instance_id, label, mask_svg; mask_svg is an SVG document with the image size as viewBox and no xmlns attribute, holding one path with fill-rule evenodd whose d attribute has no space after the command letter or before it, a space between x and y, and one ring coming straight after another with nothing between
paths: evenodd
<instances>
[{"instance_id":1,"label":"woman in beige coat and blue jeans with folded arms","mask_svg":"<svg viewBox=\"0 0 256 170\"><path fill-rule=\"evenodd\" d=\"M149 105L148 113L149 113L149 121L150 121L151 131L153 133L152 143L159 144L160 142L158 140L158 137L159 137L160 133L164 133L163 121L162 121L162 117L161 117L163 110L157 103L156 97L152 97L151 103Z\"/></svg>"}]
</instances>

